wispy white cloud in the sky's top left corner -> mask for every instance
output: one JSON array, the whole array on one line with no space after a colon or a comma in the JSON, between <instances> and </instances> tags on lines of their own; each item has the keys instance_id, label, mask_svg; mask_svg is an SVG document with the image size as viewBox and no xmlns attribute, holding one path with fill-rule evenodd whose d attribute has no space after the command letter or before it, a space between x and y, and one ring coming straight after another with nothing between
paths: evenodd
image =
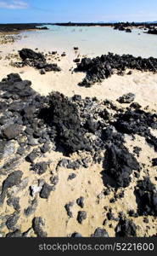
<instances>
[{"instance_id":1,"label":"wispy white cloud in the sky's top left corner","mask_svg":"<svg viewBox=\"0 0 157 256\"><path fill-rule=\"evenodd\" d=\"M29 4L22 0L0 1L0 9L27 9Z\"/></svg>"}]
</instances>

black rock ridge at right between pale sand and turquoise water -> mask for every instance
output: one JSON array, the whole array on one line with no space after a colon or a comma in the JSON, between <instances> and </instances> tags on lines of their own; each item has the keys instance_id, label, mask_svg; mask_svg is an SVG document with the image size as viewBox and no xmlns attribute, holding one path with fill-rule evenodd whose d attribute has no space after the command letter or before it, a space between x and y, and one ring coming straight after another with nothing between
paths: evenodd
<instances>
[{"instance_id":1,"label":"black rock ridge at right between pale sand and turquoise water","mask_svg":"<svg viewBox=\"0 0 157 256\"><path fill-rule=\"evenodd\" d=\"M109 53L93 59L81 59L81 63L77 63L76 71L87 73L80 85L90 87L103 79L108 79L115 71L117 74L124 73L126 68L155 73L157 71L157 59Z\"/></svg>"}]
</instances>

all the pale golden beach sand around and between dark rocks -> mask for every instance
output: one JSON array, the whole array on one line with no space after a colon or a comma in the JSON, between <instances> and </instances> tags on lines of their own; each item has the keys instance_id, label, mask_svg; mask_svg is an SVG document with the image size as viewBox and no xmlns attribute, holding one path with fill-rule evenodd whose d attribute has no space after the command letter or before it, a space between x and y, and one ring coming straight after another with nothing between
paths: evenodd
<instances>
[{"instance_id":1,"label":"all the pale golden beach sand around and between dark rocks","mask_svg":"<svg viewBox=\"0 0 157 256\"><path fill-rule=\"evenodd\" d=\"M28 48L30 48L30 45L28 45ZM128 75L127 73L130 69L126 69L125 74L122 76L114 73L109 79L104 79L101 83L93 84L91 87L83 87L78 84L86 77L86 73L75 72L76 63L74 62L78 57L81 59L85 57L85 55L81 55L80 49L75 51L71 48L68 52L66 52L66 49L60 49L57 55L48 54L48 51L44 51L44 55L47 54L46 59L48 63L57 63L61 71L52 71L43 75L34 67L13 67L14 62L21 61L18 53L20 49L18 42L0 45L0 81L6 78L9 73L19 73L22 80L31 81L31 88L41 96L48 96L52 91L58 91L69 98L79 95L82 101L85 100L86 97L96 97L98 99L98 108L102 109L104 109L103 102L107 99L118 109L116 112L114 108L107 108L109 114L113 116L115 113L125 113L127 108L130 108L128 103L121 104L117 102L117 99L128 93L132 93L135 95L134 102L140 104L141 109L145 113L157 113L157 73L133 70L132 74ZM35 50L34 48L31 49ZM65 56L61 56L63 50L65 50ZM42 52L42 49L37 49L36 52ZM2 91L1 95L3 95ZM3 101L5 100L2 99L2 102ZM10 100L10 103L11 102ZM122 111L120 111L120 109L122 109ZM90 110L88 114L89 113ZM97 111L95 114L97 114ZM3 113L1 113L0 117L2 116ZM154 137L157 137L155 126L154 128L148 127L148 129ZM89 131L89 137L90 136L92 137ZM93 134L93 137L94 136L97 136L97 134ZM32 227L32 220L41 217L44 219L42 228L47 232L47 236L70 237L76 232L81 234L81 236L89 237L94 234L95 230L100 228L106 230L109 237L115 237L121 212L136 225L136 236L156 235L156 213L152 215L139 214L132 216L132 214L128 212L131 210L137 212L137 199L134 189L139 180L143 180L144 177L149 176L151 183L153 183L156 188L156 166L152 166L152 159L157 158L157 153L154 147L147 143L145 137L139 134L132 135L124 133L124 138L124 146L136 158L140 166L140 172L139 175L136 176L138 172L133 171L129 185L126 186L126 188L120 187L118 192L115 188L104 184L104 163L102 161L95 163L92 154L86 150L79 150L68 156L64 156L63 152L53 150L51 147L48 152L42 155L40 154L34 161L35 164L42 161L48 163L47 172L39 176L37 173L31 171L31 163L25 160L26 155L31 152L32 148L38 148L39 145L36 144L31 146L31 148L28 147L25 154L19 157L17 154L17 148L19 147L18 141L14 138L9 140L7 143L11 143L10 152L8 151L8 154L0 160L1 189L3 188L3 182L7 175L11 172L22 171L23 177L19 187L13 186L8 188L3 205L0 206L0 236L3 237L9 232L11 234L11 232L14 233L19 230L19 236L22 236L21 234L26 232L25 236L34 237L36 236L36 231ZM25 135L21 136L21 139L25 141ZM141 148L138 156L134 152L136 147ZM105 150L103 149L100 153L103 157L104 152ZM9 160L14 159L14 157L17 157L18 160L15 161L13 170L9 168L5 170L3 166L5 166ZM71 161L87 159L87 166L81 166L78 169L76 168L76 170L59 166L59 161L64 158ZM69 178L71 173L75 174L72 179ZM36 192L34 196L30 194L31 186L34 185L37 188L39 179L44 180L45 183L50 183L49 181L52 177L58 177L59 183L56 184L55 190L51 192L48 199L41 198L39 192ZM109 189L109 195L105 195L104 192L106 189ZM115 195L121 193L124 195L112 202ZM18 211L14 210L12 204L8 205L7 200L10 197L20 198L20 209ZM80 197L84 198L83 208L76 202ZM32 201L35 199L35 209L30 215L25 216L25 209L33 205ZM65 209L66 204L70 202L72 202L72 206L70 207L70 211L72 212L71 218L68 216ZM87 212L87 218L83 220L82 224L77 221L79 211ZM14 215L14 212L16 212L19 217L14 227L9 230L6 226L6 221L8 217ZM109 212L112 213L111 218L109 218ZM133 235L131 234L131 236Z\"/></svg>"}]
</instances>

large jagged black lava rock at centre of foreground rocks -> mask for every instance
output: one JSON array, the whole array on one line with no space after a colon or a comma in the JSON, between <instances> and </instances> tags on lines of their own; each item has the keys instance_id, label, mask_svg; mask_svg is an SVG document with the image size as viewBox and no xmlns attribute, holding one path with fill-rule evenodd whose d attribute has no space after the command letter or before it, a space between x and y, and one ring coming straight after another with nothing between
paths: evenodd
<instances>
[{"instance_id":1,"label":"large jagged black lava rock at centre of foreground rocks","mask_svg":"<svg viewBox=\"0 0 157 256\"><path fill-rule=\"evenodd\" d=\"M76 104L72 103L59 92L49 96L49 108L43 113L43 118L48 125L54 125L57 129L57 142L65 149L66 154L78 150L90 150L85 131L81 128Z\"/></svg>"}]
</instances>

